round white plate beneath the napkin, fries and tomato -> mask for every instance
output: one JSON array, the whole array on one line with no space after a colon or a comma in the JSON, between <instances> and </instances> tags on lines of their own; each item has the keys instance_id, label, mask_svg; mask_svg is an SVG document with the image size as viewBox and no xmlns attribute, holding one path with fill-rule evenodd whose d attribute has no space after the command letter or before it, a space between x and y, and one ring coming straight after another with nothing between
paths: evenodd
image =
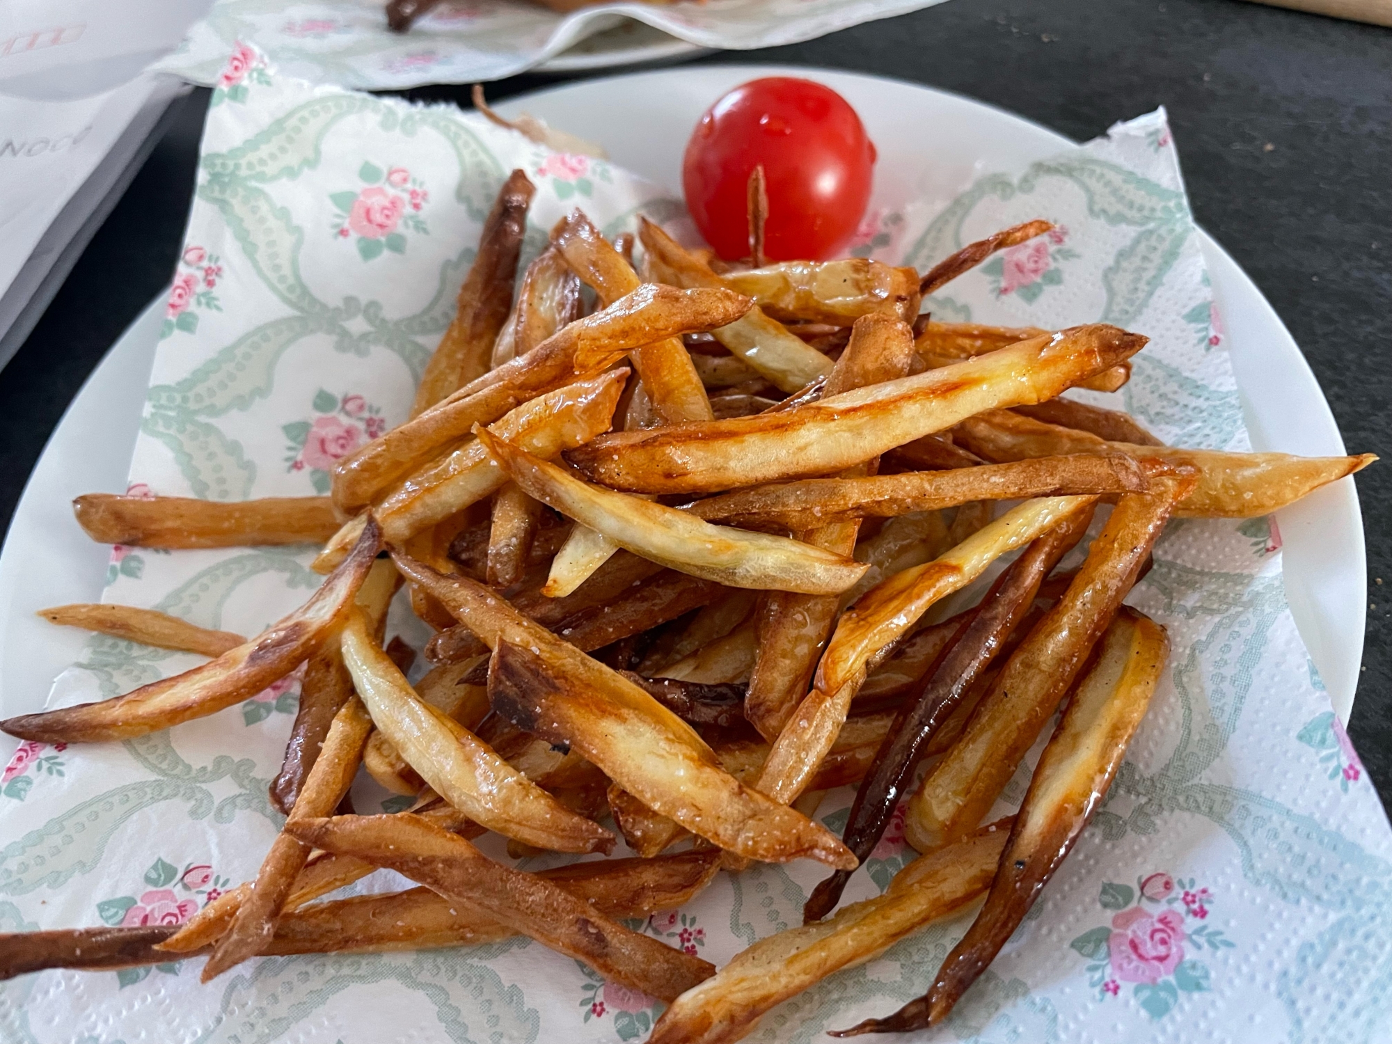
<instances>
[{"instance_id":1,"label":"round white plate beneath the napkin, fries and tomato","mask_svg":"<svg viewBox=\"0 0 1392 1044\"><path fill-rule=\"evenodd\" d=\"M617 163L678 185L682 150L700 113L736 84L788 71L722 65L643 72L554 88L498 107L509 116L525 109L603 142ZM905 198L905 189L954 188L973 171L1018 167L1069 145L1043 127L941 90L844 72L793 72L827 84L856 107L880 146L877 192L895 191L898 198ZM615 113L622 118L614 118ZM905 125L931 132L905 135ZM1334 415L1281 319L1207 235L1204 252L1256 447L1342 454ZM0 553L4 717L39 710L50 679L82 646L82 633L53 628L33 612L100 597L107 548L82 535L68 503L79 493L124 491L160 319L161 302L155 302L93 372L54 430L15 511ZM1347 720L1367 606L1363 522L1353 480L1320 490L1282 511L1278 521L1296 624L1335 710Z\"/></svg>"}]
</instances>

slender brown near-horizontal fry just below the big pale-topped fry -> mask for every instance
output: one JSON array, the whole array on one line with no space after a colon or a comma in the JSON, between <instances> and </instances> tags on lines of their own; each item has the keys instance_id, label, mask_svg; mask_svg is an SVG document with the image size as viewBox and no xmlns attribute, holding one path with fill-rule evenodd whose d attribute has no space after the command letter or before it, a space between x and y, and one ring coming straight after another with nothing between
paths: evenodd
<instances>
[{"instance_id":1,"label":"slender brown near-horizontal fry just below the big pale-topped fry","mask_svg":"<svg viewBox=\"0 0 1392 1044\"><path fill-rule=\"evenodd\" d=\"M685 509L696 518L735 526L807 529L852 518L889 518L981 500L1144 490L1146 472L1132 458L1072 454L951 470L803 479L707 497Z\"/></svg>"}]
</instances>

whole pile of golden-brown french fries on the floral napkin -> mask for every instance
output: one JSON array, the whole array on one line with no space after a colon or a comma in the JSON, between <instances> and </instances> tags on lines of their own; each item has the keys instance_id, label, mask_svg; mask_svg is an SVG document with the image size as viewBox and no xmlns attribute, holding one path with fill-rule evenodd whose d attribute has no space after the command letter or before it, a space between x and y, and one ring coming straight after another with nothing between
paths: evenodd
<instances>
[{"instance_id":1,"label":"whole pile of golden-brown french fries on the floral napkin","mask_svg":"<svg viewBox=\"0 0 1392 1044\"><path fill-rule=\"evenodd\" d=\"M45 612L212 658L3 722L24 739L139 736L305 672L271 784L287 818L253 881L181 926L3 935L0 974L206 955L207 981L258 955L519 933L667 1001L651 1040L734 1041L984 896L923 998L845 1033L937 1025L1058 870L1146 714L1168 639L1122 603L1166 522L1263 515L1374 459L1166 447L1061 398L1123 384L1144 337L920 315L1045 221L926 274L767 264L752 191L749 263L647 221L608 242L575 212L519 276L532 192L514 171L412 416L340 461L331 497L77 501L99 541L316 541L327 576L249 640L118 606ZM401 587L436 632L413 685L415 651L384 642ZM1019 812L983 825L1059 709ZM359 767L411 809L354 814ZM813 814L844 785L859 789L837 838ZM901 802L923 855L838 909ZM635 855L525 873L475 846L487 831L512 856L608 855L615 832ZM793 859L830 871L805 926L722 969L621 923ZM334 898L380 867L420 887Z\"/></svg>"}]
</instances>

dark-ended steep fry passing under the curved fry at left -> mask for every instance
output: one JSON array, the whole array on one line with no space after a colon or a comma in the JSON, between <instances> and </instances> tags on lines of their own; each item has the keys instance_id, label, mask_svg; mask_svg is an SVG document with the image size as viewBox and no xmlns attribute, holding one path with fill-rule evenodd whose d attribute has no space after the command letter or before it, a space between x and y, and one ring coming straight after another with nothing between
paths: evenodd
<instances>
[{"instance_id":1,"label":"dark-ended steep fry passing under the curved fry at left","mask_svg":"<svg viewBox=\"0 0 1392 1044\"><path fill-rule=\"evenodd\" d=\"M367 571L367 578L358 589L355 601L362 606L374 629L381 629L387 618L387 606L397 593L401 578L397 567L388 558L379 558ZM295 709L295 724L290 728L285 742L285 756L280 771L270 782L270 803L288 816L295 807L299 791L309 777L309 770L319 757L334 715L352 696L352 678L344 667L337 642L326 642L319 651L305 663L305 678L299 683L299 706ZM415 791L412 791L415 793Z\"/></svg>"}]
</instances>

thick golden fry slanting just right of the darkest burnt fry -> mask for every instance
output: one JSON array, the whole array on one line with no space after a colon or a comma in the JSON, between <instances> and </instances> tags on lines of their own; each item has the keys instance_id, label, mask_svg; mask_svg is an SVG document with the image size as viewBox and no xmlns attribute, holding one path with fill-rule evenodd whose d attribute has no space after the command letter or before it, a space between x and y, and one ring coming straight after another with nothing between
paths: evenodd
<instances>
[{"instance_id":1,"label":"thick golden fry slanting just right of the darkest burnt fry","mask_svg":"<svg viewBox=\"0 0 1392 1044\"><path fill-rule=\"evenodd\" d=\"M987 814L1193 484L1193 476L1160 477L1150 493L1116 501L1063 597L1011 654L962 739L909 800L905 835L916 849L951 844Z\"/></svg>"}]
</instances>

